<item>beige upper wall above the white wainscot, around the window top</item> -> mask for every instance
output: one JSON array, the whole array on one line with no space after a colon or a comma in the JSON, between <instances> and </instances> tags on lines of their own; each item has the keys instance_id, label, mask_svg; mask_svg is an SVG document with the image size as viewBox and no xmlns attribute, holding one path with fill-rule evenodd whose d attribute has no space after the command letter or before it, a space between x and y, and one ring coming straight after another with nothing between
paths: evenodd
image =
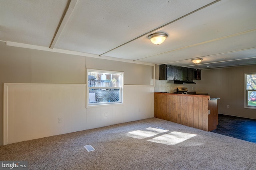
<instances>
[{"instance_id":1,"label":"beige upper wall above the white wainscot, around the window top","mask_svg":"<svg viewBox=\"0 0 256 170\"><path fill-rule=\"evenodd\" d=\"M0 89L4 83L85 84L86 67L124 71L126 85L152 85L153 66L11 47L4 42L0 42L0 51ZM0 145L3 145L3 90L0 90Z\"/></svg>"}]
</instances>

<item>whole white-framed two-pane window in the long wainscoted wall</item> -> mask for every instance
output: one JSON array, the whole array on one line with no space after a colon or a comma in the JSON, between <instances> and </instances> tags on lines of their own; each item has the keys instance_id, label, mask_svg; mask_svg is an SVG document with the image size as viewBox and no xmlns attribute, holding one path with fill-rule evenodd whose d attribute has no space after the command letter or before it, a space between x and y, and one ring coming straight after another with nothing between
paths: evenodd
<instances>
[{"instance_id":1,"label":"whole white-framed two-pane window in the long wainscoted wall","mask_svg":"<svg viewBox=\"0 0 256 170\"><path fill-rule=\"evenodd\" d=\"M123 72L87 69L87 106L122 103Z\"/></svg>"}]
</instances>

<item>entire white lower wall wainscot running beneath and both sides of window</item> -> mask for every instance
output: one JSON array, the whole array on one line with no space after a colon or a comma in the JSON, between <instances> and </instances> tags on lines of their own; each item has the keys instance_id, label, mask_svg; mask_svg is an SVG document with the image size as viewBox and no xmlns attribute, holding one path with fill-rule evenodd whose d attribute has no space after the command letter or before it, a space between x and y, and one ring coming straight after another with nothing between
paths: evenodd
<instances>
[{"instance_id":1,"label":"entire white lower wall wainscot running beneath and both sides of window","mask_svg":"<svg viewBox=\"0 0 256 170\"><path fill-rule=\"evenodd\" d=\"M11 83L4 89L4 145L154 117L152 86L124 86L124 104L87 109L85 84Z\"/></svg>"}]
</instances>

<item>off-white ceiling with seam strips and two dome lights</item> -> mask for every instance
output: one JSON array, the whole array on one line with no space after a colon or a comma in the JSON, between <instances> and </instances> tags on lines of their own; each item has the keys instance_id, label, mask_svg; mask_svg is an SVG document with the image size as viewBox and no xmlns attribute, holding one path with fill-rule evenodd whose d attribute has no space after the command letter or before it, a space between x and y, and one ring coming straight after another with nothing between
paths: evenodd
<instances>
[{"instance_id":1,"label":"off-white ceiling with seam strips and two dome lights","mask_svg":"<svg viewBox=\"0 0 256 170\"><path fill-rule=\"evenodd\" d=\"M166 41L151 43L154 32ZM256 1L6 0L0 41L196 69L256 64Z\"/></svg>"}]
</instances>

